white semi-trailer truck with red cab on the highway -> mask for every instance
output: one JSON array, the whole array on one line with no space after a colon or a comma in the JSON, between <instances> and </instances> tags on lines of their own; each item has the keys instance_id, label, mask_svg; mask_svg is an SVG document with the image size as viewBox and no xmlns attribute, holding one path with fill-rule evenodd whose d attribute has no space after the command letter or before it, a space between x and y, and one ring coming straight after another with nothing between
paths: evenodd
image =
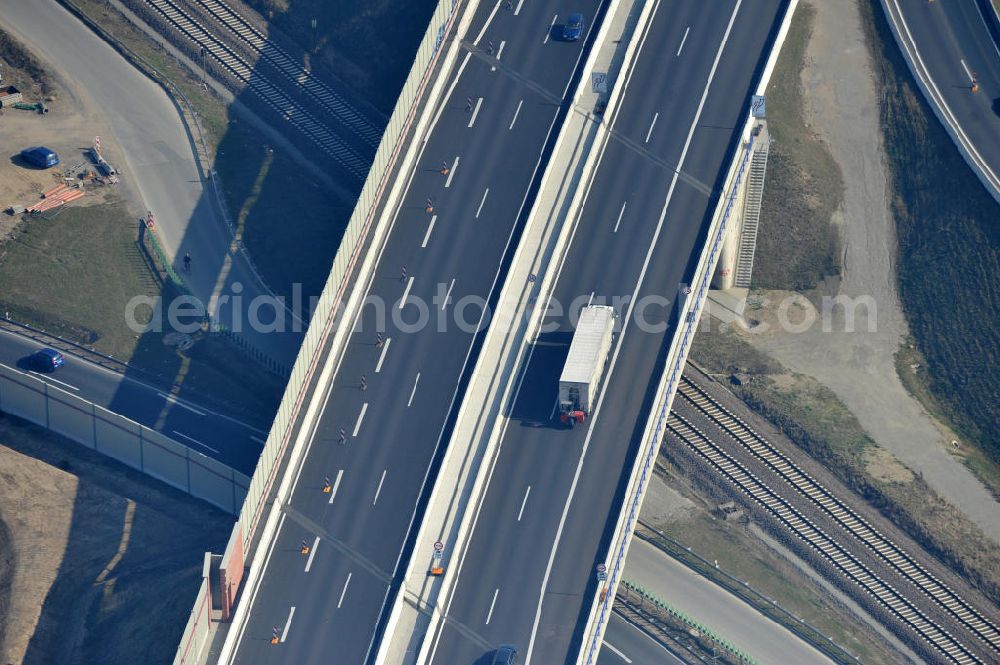
<instances>
[{"instance_id":1,"label":"white semi-trailer truck with red cab on the highway","mask_svg":"<svg viewBox=\"0 0 1000 665\"><path fill-rule=\"evenodd\" d=\"M559 377L559 420L570 427L586 420L594 406L614 327L614 307L588 305L580 311Z\"/></svg>"}]
</instances>

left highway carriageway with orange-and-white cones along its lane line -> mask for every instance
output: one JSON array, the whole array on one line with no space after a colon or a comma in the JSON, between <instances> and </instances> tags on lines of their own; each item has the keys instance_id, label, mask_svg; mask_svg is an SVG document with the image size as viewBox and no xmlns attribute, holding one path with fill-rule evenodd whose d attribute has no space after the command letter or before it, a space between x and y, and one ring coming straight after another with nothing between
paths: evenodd
<instances>
[{"instance_id":1,"label":"left highway carriageway with orange-and-white cones along its lane line","mask_svg":"<svg viewBox=\"0 0 1000 665\"><path fill-rule=\"evenodd\" d=\"M529 186L583 54L585 40L552 34L559 17L575 10L593 20L599 4L484 1L462 35L480 50L460 54L457 74L449 75L453 89L437 109L368 287L374 304L355 324L325 396L263 581L243 589L250 613L245 630L232 629L239 638L233 662L366 662L446 419L459 403L481 311L475 302L499 290L501 259L516 246ZM504 67L491 64L497 57ZM270 644L273 630L278 645Z\"/></svg>"}]
</instances>

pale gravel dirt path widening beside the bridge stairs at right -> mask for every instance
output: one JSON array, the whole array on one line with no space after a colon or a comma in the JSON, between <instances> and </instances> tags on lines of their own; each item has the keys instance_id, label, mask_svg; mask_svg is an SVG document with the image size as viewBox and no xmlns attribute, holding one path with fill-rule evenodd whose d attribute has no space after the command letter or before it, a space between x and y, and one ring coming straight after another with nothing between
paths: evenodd
<instances>
[{"instance_id":1,"label":"pale gravel dirt path widening beside the bridge stairs at right","mask_svg":"<svg viewBox=\"0 0 1000 665\"><path fill-rule=\"evenodd\" d=\"M802 83L806 122L829 145L844 174L843 205L834 214L844 243L839 293L870 298L874 307L858 309L853 332L841 309L834 310L830 331L817 321L808 330L788 332L776 317L778 303L790 294L767 292L770 304L752 315L770 323L769 330L745 339L829 387L880 446L1000 543L1000 505L949 453L956 437L926 413L896 373L894 356L907 327L896 292L878 100L858 7L812 4L816 23ZM807 309L808 304L789 308L788 319L802 321Z\"/></svg>"}]
</instances>

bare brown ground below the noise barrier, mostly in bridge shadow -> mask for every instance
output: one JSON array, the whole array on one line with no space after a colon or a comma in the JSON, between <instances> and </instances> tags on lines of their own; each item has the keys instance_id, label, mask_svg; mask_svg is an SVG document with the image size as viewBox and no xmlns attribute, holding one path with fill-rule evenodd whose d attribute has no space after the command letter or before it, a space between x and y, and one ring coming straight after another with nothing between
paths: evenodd
<instances>
[{"instance_id":1,"label":"bare brown ground below the noise barrier, mostly in bridge shadow","mask_svg":"<svg viewBox=\"0 0 1000 665\"><path fill-rule=\"evenodd\" d=\"M0 662L170 662L232 518L0 416Z\"/></svg>"}]
</instances>

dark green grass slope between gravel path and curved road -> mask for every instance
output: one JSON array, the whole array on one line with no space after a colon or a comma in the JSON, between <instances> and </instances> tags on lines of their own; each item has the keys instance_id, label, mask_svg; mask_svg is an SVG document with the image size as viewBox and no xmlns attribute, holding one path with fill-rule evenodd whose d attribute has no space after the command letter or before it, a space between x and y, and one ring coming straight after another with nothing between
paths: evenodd
<instances>
[{"instance_id":1,"label":"dark green grass slope between gravel path and curved road","mask_svg":"<svg viewBox=\"0 0 1000 665\"><path fill-rule=\"evenodd\" d=\"M916 394L1000 463L1000 206L916 88L881 7L860 6L882 100L900 300L927 368Z\"/></svg>"}]
</instances>

